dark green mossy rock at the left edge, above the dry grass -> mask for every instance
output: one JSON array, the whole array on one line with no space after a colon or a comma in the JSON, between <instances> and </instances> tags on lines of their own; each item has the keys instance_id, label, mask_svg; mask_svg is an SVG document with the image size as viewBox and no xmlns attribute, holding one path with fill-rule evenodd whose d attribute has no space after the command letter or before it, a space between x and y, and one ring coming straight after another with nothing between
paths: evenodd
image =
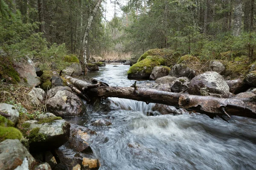
<instances>
[{"instance_id":1,"label":"dark green mossy rock at the left edge, above the dry grass","mask_svg":"<svg viewBox=\"0 0 256 170\"><path fill-rule=\"evenodd\" d=\"M0 77L7 82L17 84L20 82L20 77L17 71L13 68L12 59L9 57L0 57Z\"/></svg>"}]
</instances>

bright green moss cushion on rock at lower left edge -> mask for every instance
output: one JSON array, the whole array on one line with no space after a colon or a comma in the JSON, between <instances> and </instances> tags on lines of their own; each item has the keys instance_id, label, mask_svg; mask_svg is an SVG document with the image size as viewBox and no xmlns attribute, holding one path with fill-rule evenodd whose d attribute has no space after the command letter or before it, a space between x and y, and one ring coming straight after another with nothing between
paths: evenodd
<instances>
[{"instance_id":1,"label":"bright green moss cushion on rock at lower left edge","mask_svg":"<svg viewBox=\"0 0 256 170\"><path fill-rule=\"evenodd\" d=\"M0 126L0 142L6 139L21 139L22 134L20 130L15 127L2 127Z\"/></svg>"}]
</instances>

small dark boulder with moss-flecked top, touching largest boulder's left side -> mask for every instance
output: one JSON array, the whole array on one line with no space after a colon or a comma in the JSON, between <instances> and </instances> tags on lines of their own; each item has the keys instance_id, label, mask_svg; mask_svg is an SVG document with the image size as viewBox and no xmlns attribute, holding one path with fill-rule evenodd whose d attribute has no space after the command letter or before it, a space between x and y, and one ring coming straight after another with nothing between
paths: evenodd
<instances>
[{"instance_id":1,"label":"small dark boulder with moss-flecked top, touching largest boulder's left side","mask_svg":"<svg viewBox=\"0 0 256 170\"><path fill-rule=\"evenodd\" d=\"M175 79L171 84L172 92L180 93L181 91L185 91L189 86L189 79L187 77L179 77Z\"/></svg>"}]
</instances>

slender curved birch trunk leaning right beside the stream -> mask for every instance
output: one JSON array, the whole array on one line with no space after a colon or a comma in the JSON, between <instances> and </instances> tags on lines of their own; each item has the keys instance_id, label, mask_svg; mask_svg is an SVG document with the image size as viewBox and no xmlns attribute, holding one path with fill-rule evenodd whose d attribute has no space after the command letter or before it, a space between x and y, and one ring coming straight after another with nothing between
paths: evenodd
<instances>
[{"instance_id":1,"label":"slender curved birch trunk leaning right beside the stream","mask_svg":"<svg viewBox=\"0 0 256 170\"><path fill-rule=\"evenodd\" d=\"M87 46L88 46L88 36L90 31L90 26L93 23L93 18L98 10L102 0L98 0L96 5L93 8L93 11L89 15L88 22L86 28L84 30L83 44L82 44L82 53L83 53L83 61L84 61L84 74L87 75Z\"/></svg>"}]
</instances>

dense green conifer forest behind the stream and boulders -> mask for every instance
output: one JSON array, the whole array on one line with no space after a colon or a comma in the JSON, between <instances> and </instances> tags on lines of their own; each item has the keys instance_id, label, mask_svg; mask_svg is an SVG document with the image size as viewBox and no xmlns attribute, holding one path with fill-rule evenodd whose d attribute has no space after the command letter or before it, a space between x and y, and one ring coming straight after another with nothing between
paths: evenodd
<instances>
[{"instance_id":1,"label":"dense green conifer forest behind the stream and boulders","mask_svg":"<svg viewBox=\"0 0 256 170\"><path fill-rule=\"evenodd\" d=\"M93 0L1 0L1 57L27 55L41 69L54 58L59 69L68 56L83 63L83 36ZM112 1L111 1L112 2ZM137 59L152 48L200 59L254 61L255 0L128 0L115 4L105 21L104 2L88 35L89 59ZM117 6L122 17L117 17ZM3 53L5 52L5 53ZM67 56L68 55L68 56ZM66 57L65 57L66 56ZM64 59L65 58L65 59ZM70 58L69 58L70 59Z\"/></svg>"}]
</instances>

